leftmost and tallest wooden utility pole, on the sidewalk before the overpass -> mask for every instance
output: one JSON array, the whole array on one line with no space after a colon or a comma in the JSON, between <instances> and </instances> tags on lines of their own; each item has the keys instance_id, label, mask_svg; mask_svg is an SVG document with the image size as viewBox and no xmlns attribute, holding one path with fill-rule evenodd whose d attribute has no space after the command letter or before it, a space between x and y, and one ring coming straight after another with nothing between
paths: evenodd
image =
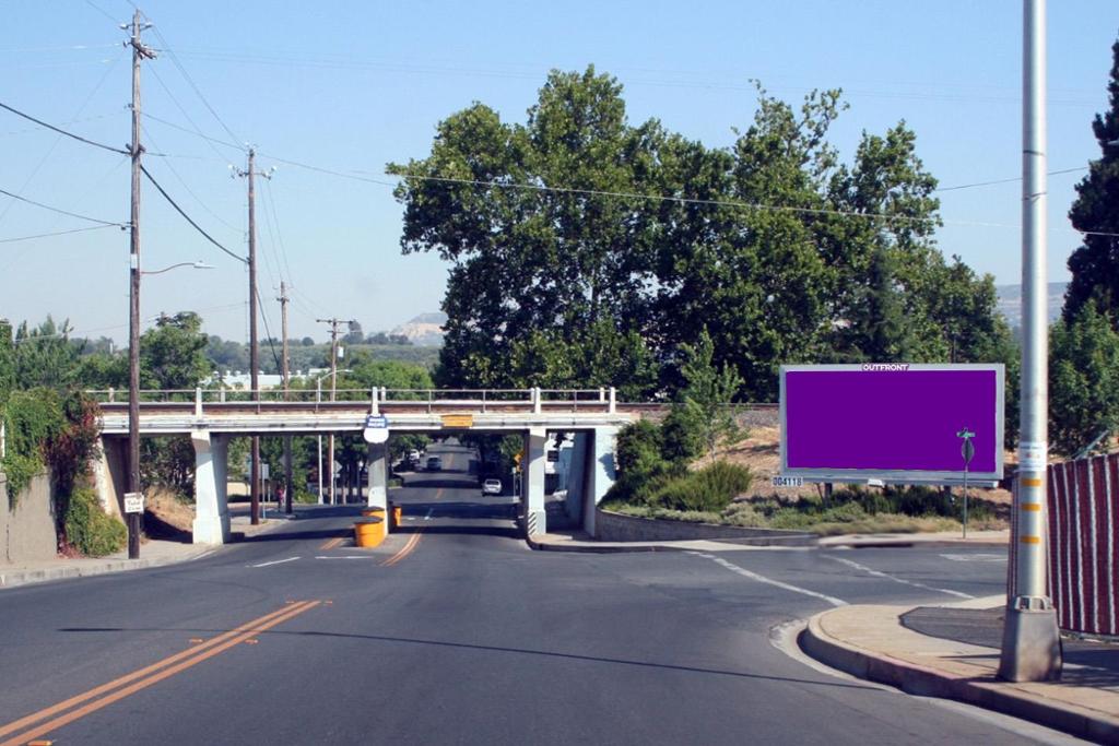
<instances>
[{"instance_id":1,"label":"leftmost and tallest wooden utility pole, on the sidewalk before the overpass","mask_svg":"<svg viewBox=\"0 0 1119 746\"><path fill-rule=\"evenodd\" d=\"M132 211L130 217L130 291L129 291L129 489L140 492L140 63L156 57L140 41L140 32L151 23L140 21L140 10L132 15ZM128 26L121 28L128 29ZM140 557L142 514L128 513L129 559Z\"/></svg>"}]
</instances>

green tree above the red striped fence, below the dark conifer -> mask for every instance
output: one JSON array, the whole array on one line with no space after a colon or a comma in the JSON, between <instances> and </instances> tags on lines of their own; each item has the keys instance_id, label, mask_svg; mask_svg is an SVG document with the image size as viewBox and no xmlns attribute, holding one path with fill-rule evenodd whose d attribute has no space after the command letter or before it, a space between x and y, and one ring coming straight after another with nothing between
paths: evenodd
<instances>
[{"instance_id":1,"label":"green tree above the red striped fence, below the dark conifer","mask_svg":"<svg viewBox=\"0 0 1119 746\"><path fill-rule=\"evenodd\" d=\"M1093 303L1050 330L1050 437L1073 455L1119 427L1119 332Z\"/></svg>"}]
</instances>

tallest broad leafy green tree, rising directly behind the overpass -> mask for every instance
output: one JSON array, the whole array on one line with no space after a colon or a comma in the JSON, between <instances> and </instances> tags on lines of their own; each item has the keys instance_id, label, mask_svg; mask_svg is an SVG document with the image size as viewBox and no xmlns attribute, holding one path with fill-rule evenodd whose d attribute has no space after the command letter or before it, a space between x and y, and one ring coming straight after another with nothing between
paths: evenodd
<instances>
[{"instance_id":1,"label":"tallest broad leafy green tree, rising directly behind the overpass","mask_svg":"<svg viewBox=\"0 0 1119 746\"><path fill-rule=\"evenodd\" d=\"M648 321L656 204L618 195L650 191L662 140L589 67L549 74L524 125L474 104L440 123L429 158L389 166L405 177L404 252L451 263L441 383L632 380L623 356ZM542 359L507 365L538 347Z\"/></svg>"}]
</instances>

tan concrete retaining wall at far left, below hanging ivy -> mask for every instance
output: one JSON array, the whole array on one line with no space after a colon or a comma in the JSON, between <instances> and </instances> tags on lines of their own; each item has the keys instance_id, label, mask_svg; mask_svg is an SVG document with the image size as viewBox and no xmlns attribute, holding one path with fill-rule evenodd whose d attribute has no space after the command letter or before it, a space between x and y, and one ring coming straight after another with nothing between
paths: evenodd
<instances>
[{"instance_id":1,"label":"tan concrete retaining wall at far left, below hanging ivy","mask_svg":"<svg viewBox=\"0 0 1119 746\"><path fill-rule=\"evenodd\" d=\"M46 474L32 479L12 504L8 478L0 473L0 563L50 559L58 554L54 504Z\"/></svg>"}]
</instances>

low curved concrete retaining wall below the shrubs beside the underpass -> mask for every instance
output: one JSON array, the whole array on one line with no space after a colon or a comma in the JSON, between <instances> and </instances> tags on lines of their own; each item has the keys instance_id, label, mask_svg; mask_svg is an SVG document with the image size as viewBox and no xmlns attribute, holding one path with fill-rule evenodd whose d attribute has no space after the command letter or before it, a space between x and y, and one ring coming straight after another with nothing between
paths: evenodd
<instances>
[{"instance_id":1,"label":"low curved concrete retaining wall below the shrubs beside the underpass","mask_svg":"<svg viewBox=\"0 0 1119 746\"><path fill-rule=\"evenodd\" d=\"M801 531L656 520L652 518L622 516L621 513L601 509L595 511L594 529L594 538L600 541L686 541L689 539L716 539L720 541L760 546L814 546L817 542L815 533L803 533Z\"/></svg>"}]
</instances>

